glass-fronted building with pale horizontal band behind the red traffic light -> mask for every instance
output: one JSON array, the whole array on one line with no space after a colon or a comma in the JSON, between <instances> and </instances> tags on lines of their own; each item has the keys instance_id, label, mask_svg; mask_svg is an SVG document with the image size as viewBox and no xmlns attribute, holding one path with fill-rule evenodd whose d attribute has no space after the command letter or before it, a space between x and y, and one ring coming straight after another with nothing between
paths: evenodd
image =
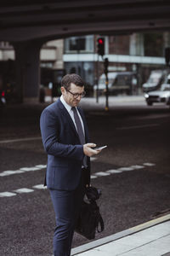
<instances>
[{"instance_id":1,"label":"glass-fronted building with pale horizontal band behind the red traffic light","mask_svg":"<svg viewBox=\"0 0 170 256\"><path fill-rule=\"evenodd\" d=\"M65 39L64 67L66 73L78 73L88 84L94 85L104 72L103 60L97 54L99 35ZM133 33L131 35L102 36L109 72L133 71L139 74L139 87L153 69L164 69L164 49L170 45L169 32Z\"/></svg>"}]
</instances>

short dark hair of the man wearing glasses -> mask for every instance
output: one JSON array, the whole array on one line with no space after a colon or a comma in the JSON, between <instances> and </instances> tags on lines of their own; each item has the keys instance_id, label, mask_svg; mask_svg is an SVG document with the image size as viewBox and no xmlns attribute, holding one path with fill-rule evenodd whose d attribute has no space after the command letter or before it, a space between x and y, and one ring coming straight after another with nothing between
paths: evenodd
<instances>
[{"instance_id":1,"label":"short dark hair of the man wearing glasses","mask_svg":"<svg viewBox=\"0 0 170 256\"><path fill-rule=\"evenodd\" d=\"M82 78L76 73L66 74L61 80L61 86L65 87L65 90L70 90L71 83L80 87L84 86Z\"/></svg>"}]
</instances>

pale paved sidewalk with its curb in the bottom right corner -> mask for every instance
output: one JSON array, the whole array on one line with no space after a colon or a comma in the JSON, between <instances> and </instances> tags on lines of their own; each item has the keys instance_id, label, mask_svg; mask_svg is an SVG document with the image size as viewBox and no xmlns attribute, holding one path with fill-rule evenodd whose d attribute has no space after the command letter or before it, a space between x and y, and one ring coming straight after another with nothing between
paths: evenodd
<instances>
[{"instance_id":1,"label":"pale paved sidewalk with its curb in the bottom right corner","mask_svg":"<svg viewBox=\"0 0 170 256\"><path fill-rule=\"evenodd\" d=\"M77 256L170 256L170 214L73 248Z\"/></svg>"}]
</instances>

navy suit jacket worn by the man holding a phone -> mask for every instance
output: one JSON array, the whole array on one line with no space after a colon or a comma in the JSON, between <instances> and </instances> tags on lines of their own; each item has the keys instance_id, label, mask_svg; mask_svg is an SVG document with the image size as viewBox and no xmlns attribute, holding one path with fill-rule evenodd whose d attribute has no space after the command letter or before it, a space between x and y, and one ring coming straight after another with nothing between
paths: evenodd
<instances>
[{"instance_id":1,"label":"navy suit jacket worn by the man holding a phone","mask_svg":"<svg viewBox=\"0 0 170 256\"><path fill-rule=\"evenodd\" d=\"M88 126L81 108L86 143L89 142ZM82 173L83 146L76 127L60 99L42 111L40 118L42 143L48 154L46 182L48 189L74 190ZM85 183L90 183L90 160L85 171Z\"/></svg>"}]
</instances>

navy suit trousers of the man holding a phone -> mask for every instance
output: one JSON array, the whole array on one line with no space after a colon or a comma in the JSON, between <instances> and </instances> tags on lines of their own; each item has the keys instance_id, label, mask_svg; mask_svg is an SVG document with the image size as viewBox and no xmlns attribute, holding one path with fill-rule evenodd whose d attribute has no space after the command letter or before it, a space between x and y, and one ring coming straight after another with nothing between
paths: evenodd
<instances>
[{"instance_id":1,"label":"navy suit trousers of the man holding a phone","mask_svg":"<svg viewBox=\"0 0 170 256\"><path fill-rule=\"evenodd\" d=\"M54 205L56 227L54 230L54 256L70 256L71 242L75 224L85 195L85 183L82 177L76 190L66 191L49 189Z\"/></svg>"}]
</instances>

